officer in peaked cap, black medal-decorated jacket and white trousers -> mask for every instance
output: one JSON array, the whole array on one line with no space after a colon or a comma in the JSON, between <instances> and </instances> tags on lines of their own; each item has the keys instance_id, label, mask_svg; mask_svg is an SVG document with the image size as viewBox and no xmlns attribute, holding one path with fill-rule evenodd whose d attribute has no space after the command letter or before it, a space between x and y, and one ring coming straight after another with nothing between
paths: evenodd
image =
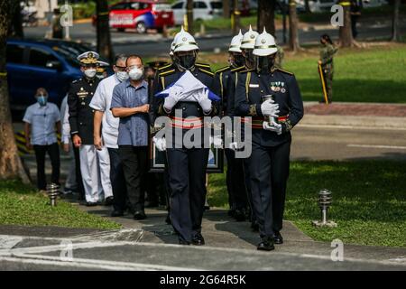
<instances>
[{"instance_id":1,"label":"officer in peaked cap, black medal-decorated jacket and white trousers","mask_svg":"<svg viewBox=\"0 0 406 289\"><path fill-rule=\"evenodd\" d=\"M98 57L97 52L93 51L78 56L84 76L70 84L68 93L70 134L72 143L79 148L80 172L88 206L96 206L102 192L97 153L93 142L94 110L89 107L99 83Z\"/></svg>"}]
</instances>

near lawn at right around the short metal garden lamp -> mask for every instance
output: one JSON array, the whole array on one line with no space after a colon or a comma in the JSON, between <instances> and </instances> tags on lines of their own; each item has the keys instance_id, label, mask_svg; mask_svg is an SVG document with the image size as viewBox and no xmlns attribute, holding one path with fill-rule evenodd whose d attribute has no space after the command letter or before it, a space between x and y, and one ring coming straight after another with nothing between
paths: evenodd
<instances>
[{"instance_id":1,"label":"near lawn at right around the short metal garden lamp","mask_svg":"<svg viewBox=\"0 0 406 289\"><path fill-rule=\"evenodd\" d=\"M320 219L318 191L333 192L329 218L337 228L314 228ZM225 174L211 174L208 201L227 207ZM406 247L406 165L404 162L293 162L285 219L310 238L331 242Z\"/></svg>"}]
</instances>

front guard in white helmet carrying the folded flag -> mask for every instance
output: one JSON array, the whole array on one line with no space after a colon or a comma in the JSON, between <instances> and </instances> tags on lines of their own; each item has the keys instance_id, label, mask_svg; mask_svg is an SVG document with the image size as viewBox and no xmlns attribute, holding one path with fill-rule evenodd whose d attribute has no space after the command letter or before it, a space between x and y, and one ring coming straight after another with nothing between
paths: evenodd
<instances>
[{"instance_id":1,"label":"front guard in white helmet carrying the folded flag","mask_svg":"<svg viewBox=\"0 0 406 289\"><path fill-rule=\"evenodd\" d=\"M193 36L182 31L175 36L173 69L157 74L154 80L154 95L167 89L189 70L192 75L218 94L214 74L196 65L198 45ZM172 127L181 129L180 135L185 135L190 129L200 128L203 134L203 117L219 115L219 103L206 98L198 102L182 101L176 96L154 98L152 110L155 116L171 117ZM182 116L175 118L175 110L180 110ZM192 119L186 119L192 117ZM173 133L175 135L175 133ZM206 198L206 171L208 166L208 148L175 147L177 140L173 137L171 148L166 149L167 170L171 192L171 223L179 235L182 245L204 245L201 235ZM156 143L157 144L157 143ZM158 144L157 144L158 146Z\"/></svg>"}]
</instances>

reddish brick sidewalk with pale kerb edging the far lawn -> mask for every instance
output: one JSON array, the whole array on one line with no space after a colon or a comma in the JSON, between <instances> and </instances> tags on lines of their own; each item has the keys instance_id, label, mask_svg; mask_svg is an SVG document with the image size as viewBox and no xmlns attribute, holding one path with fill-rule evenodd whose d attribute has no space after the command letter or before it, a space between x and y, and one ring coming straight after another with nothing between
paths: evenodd
<instances>
[{"instance_id":1,"label":"reddish brick sidewalk with pale kerb edging the far lawn","mask_svg":"<svg viewBox=\"0 0 406 289\"><path fill-rule=\"evenodd\" d=\"M406 104L305 102L299 126L348 126L406 129Z\"/></svg>"}]
</instances>

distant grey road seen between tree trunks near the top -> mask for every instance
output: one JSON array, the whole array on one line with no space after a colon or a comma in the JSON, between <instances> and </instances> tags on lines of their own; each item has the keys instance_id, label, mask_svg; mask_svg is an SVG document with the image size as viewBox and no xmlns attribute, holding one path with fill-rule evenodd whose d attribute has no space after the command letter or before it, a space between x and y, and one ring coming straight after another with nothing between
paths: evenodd
<instances>
[{"instance_id":1,"label":"distant grey road seen between tree trunks near the top","mask_svg":"<svg viewBox=\"0 0 406 289\"><path fill-rule=\"evenodd\" d=\"M406 26L406 23L404 23ZM46 27L26 27L24 33L27 37L42 38L47 31ZM323 33L330 34L334 39L338 37L338 29L320 29L312 31L300 30L299 38L301 43L318 42ZM384 38L391 35L391 26L389 23L361 24L359 28L359 40ZM281 30L276 33L281 41ZM84 42L96 42L96 30L89 23L76 24L72 28L71 37L74 40ZM220 48L226 51L231 35L208 35L204 40L198 38L198 44L201 51L214 51ZM160 34L137 34L134 32L117 33L112 31L112 39L115 52L120 53L140 53L143 56L167 55L171 45L171 39L163 39Z\"/></svg>"}]
</instances>

